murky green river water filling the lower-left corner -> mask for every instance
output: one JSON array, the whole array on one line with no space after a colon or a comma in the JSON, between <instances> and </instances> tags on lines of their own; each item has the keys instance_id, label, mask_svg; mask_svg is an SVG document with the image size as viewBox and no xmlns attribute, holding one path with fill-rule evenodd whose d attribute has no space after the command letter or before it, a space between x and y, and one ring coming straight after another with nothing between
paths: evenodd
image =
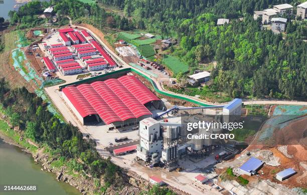
<instances>
[{"instance_id":1,"label":"murky green river water filling the lower-left corner","mask_svg":"<svg viewBox=\"0 0 307 195\"><path fill-rule=\"evenodd\" d=\"M56 175L41 170L32 155L0 138L0 185L36 185L35 192L1 192L0 194L80 194L73 186L56 180Z\"/></svg>"}]
</instances>

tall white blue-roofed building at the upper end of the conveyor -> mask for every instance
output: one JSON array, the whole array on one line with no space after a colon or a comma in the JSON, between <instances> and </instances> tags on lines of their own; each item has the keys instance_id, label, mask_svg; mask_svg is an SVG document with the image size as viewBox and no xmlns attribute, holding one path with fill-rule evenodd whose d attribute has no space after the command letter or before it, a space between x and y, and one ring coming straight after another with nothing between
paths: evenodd
<instances>
[{"instance_id":1,"label":"tall white blue-roofed building at the upper end of the conveyor","mask_svg":"<svg viewBox=\"0 0 307 195\"><path fill-rule=\"evenodd\" d=\"M223 122L239 121L241 118L242 99L235 98L223 107Z\"/></svg>"}]
</instances>

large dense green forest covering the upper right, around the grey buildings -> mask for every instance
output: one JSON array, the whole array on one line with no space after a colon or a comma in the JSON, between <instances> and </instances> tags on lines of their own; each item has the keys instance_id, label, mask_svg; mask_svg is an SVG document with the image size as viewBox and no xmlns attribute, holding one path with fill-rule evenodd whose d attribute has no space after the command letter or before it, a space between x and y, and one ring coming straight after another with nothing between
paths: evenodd
<instances>
[{"instance_id":1,"label":"large dense green forest covering the upper right, around the grey buildings","mask_svg":"<svg viewBox=\"0 0 307 195\"><path fill-rule=\"evenodd\" d=\"M253 11L299 1L99 1L123 9L138 28L177 37L180 47L173 55L188 62L191 72L204 60L216 60L214 90L231 97L307 97L306 23L288 17L293 21L282 37L261 30L260 21L252 18ZM218 18L230 19L230 24L217 26Z\"/></svg>"}]
</instances>

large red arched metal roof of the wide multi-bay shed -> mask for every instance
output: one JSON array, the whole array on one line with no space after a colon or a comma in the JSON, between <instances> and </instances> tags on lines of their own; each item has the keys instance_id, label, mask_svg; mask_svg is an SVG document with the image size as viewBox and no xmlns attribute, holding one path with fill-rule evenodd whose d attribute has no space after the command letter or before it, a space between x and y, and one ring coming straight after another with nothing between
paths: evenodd
<instances>
[{"instance_id":1,"label":"large red arched metal roof of the wide multi-bay shed","mask_svg":"<svg viewBox=\"0 0 307 195\"><path fill-rule=\"evenodd\" d=\"M62 91L82 117L98 114L106 124L151 115L144 104L160 100L134 76L68 86Z\"/></svg>"}]
</instances>

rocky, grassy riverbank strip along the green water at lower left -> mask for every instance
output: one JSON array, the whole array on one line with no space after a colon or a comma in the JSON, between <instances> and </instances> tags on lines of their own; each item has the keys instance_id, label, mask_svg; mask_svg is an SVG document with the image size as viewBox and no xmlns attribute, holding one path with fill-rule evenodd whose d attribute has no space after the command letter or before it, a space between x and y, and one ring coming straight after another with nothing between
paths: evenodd
<instances>
[{"instance_id":1,"label":"rocky, grassy riverbank strip along the green water at lower left","mask_svg":"<svg viewBox=\"0 0 307 195\"><path fill-rule=\"evenodd\" d=\"M56 175L58 181L66 182L76 187L82 194L140 194L151 187L148 181L131 172L123 173L123 180L126 181L126 184L121 187L121 190L118 190L113 185L106 185L102 179L94 179L86 175L86 173L72 171L65 162L58 159L55 154L52 155L54 151L48 146L36 147L32 145L35 143L30 144L28 140L20 139L20 137L23 137L23 134L17 128L11 128L2 115L0 117L2 118L0 120L0 137L4 142L18 146L31 154L34 161L42 166L42 171L52 172ZM181 193L175 188L172 189L177 194Z\"/></svg>"}]
</instances>

